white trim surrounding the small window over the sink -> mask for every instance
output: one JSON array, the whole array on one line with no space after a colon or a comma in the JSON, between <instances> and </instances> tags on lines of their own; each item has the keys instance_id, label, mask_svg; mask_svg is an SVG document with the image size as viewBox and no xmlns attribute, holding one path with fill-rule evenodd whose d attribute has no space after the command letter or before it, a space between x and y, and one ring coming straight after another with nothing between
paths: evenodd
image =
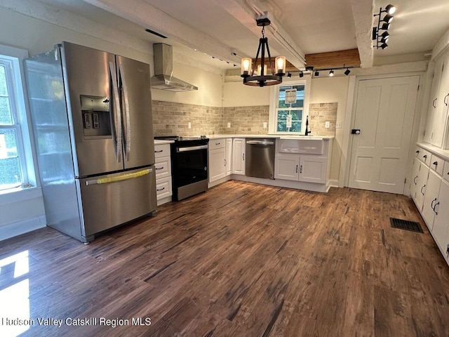
<instances>
[{"instance_id":1,"label":"white trim surrounding the small window over the sink","mask_svg":"<svg viewBox=\"0 0 449 337\"><path fill-rule=\"evenodd\" d=\"M276 107L279 100L279 87L281 86L304 86L304 107L302 109L302 116L304 123L301 124L300 132L285 132L277 131L276 128ZM288 81L283 81L282 84L272 86L270 88L270 100L269 100L269 125L268 133L277 135L303 135L306 129L305 117L309 115L309 98L310 98L310 87L311 87L311 75L304 74L304 77L300 80L288 79Z\"/></svg>"}]
</instances>

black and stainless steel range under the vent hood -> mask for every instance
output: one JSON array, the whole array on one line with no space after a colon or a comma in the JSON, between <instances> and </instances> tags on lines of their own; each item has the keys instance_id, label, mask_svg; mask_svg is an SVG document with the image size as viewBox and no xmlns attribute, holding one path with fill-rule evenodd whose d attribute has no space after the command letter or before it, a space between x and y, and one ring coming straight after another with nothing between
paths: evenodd
<instances>
[{"instance_id":1,"label":"black and stainless steel range under the vent hood","mask_svg":"<svg viewBox=\"0 0 449 337\"><path fill-rule=\"evenodd\" d=\"M206 136L156 136L170 144L173 200L182 200L208 189L208 143Z\"/></svg>"}]
</instances>

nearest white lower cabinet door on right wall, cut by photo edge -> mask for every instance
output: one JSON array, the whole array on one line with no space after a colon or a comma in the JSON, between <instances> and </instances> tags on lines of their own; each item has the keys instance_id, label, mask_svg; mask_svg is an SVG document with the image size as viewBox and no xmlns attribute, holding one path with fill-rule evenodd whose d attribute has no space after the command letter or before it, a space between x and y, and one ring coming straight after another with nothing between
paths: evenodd
<instances>
[{"instance_id":1,"label":"nearest white lower cabinet door on right wall, cut by photo edge","mask_svg":"<svg viewBox=\"0 0 449 337\"><path fill-rule=\"evenodd\" d=\"M435 206L436 215L432 234L449 263L449 185L445 181L441 182L438 202L439 204Z\"/></svg>"}]
</instances>

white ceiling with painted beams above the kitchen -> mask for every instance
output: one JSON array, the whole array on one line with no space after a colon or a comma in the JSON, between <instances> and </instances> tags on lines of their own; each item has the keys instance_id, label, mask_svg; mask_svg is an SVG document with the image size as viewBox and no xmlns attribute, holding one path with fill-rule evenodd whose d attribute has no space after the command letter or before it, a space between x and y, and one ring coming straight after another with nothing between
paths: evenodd
<instances>
[{"instance_id":1,"label":"white ceiling with painted beams above the kitchen","mask_svg":"<svg viewBox=\"0 0 449 337\"><path fill-rule=\"evenodd\" d=\"M272 55L286 55L297 67L303 65L305 54L351 48L358 48L362 67L376 64L377 58L396 56L397 60L398 55L424 59L424 53L449 30L448 0L391 0L398 9L389 29L389 48L384 50L373 48L371 30L377 25L373 14L388 0L41 1L140 39L170 44L177 53L222 69L239 65L241 57L255 57L261 36L255 24L257 12L268 11L272 20L265 32ZM168 39L145 32L147 28Z\"/></svg>"}]
</instances>

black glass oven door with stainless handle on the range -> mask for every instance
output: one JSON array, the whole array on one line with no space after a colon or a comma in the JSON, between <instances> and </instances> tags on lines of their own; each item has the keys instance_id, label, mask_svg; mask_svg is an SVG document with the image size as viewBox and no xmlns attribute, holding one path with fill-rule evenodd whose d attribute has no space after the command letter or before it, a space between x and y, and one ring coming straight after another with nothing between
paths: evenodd
<instances>
[{"instance_id":1,"label":"black glass oven door with stainless handle on the range","mask_svg":"<svg viewBox=\"0 0 449 337\"><path fill-rule=\"evenodd\" d=\"M173 183L182 187L208 179L208 145L175 145Z\"/></svg>"}]
</instances>

